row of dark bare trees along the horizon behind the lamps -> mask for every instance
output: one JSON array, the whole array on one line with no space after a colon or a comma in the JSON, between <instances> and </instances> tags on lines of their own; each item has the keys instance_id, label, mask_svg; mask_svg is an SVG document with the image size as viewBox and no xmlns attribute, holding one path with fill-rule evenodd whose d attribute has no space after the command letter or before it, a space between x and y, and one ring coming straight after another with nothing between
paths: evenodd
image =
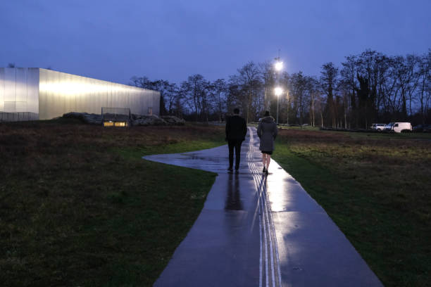
<instances>
[{"instance_id":1,"label":"row of dark bare trees along the horizon behind the lamps","mask_svg":"<svg viewBox=\"0 0 431 287\"><path fill-rule=\"evenodd\" d=\"M161 93L161 115L223 120L233 108L247 122L263 111L287 124L366 128L371 123L431 122L431 49L422 55L387 56L366 50L340 66L325 63L320 76L277 72L273 63L250 61L227 79L191 75L180 84L132 77L130 84ZM283 92L275 96L274 89ZM277 103L278 102L278 103Z\"/></svg>"}]
</instances>

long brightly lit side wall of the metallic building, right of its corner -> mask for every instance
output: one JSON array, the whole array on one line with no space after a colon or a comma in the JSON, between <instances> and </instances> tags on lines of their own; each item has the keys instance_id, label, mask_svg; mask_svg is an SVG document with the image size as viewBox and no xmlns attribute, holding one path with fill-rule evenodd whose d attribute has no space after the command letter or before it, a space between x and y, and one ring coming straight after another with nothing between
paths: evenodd
<instances>
[{"instance_id":1,"label":"long brightly lit side wall of the metallic building, right of its corner","mask_svg":"<svg viewBox=\"0 0 431 287\"><path fill-rule=\"evenodd\" d=\"M100 114L102 107L130 108L131 113L146 115L151 105L153 113L158 115L160 94L157 91L64 72L39 70L41 120L48 120L69 112Z\"/></svg>"}]
</instances>

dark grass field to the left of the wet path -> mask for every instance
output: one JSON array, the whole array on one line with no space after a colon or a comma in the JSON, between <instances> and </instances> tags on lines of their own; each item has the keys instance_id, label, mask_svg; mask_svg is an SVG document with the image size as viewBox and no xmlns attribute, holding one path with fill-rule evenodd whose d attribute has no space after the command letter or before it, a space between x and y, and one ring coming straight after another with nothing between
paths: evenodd
<instances>
[{"instance_id":1,"label":"dark grass field to the left of the wet path","mask_svg":"<svg viewBox=\"0 0 431 287\"><path fill-rule=\"evenodd\" d=\"M223 139L195 125L0 124L0 285L151 286L215 174L141 157Z\"/></svg>"}]
</instances>

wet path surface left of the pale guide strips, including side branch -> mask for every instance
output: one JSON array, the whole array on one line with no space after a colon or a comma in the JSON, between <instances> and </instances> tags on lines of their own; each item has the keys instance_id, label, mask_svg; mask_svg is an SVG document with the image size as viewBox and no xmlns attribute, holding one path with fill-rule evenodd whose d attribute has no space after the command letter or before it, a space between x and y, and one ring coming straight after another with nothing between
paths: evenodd
<instances>
[{"instance_id":1,"label":"wet path surface left of the pale guide strips, including side branch","mask_svg":"<svg viewBox=\"0 0 431 287\"><path fill-rule=\"evenodd\" d=\"M246 157L249 140L247 134L235 173L227 172L227 146L144 157L218 173L204 209L154 286L259 286L258 196ZM252 160L260 162L259 156Z\"/></svg>"}]
</instances>

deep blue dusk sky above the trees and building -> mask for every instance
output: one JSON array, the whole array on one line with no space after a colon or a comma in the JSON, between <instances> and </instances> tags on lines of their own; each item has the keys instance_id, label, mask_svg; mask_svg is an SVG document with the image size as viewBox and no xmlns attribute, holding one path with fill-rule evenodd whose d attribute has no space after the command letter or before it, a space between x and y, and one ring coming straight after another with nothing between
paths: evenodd
<instances>
[{"instance_id":1,"label":"deep blue dusk sky above the trees and building","mask_svg":"<svg viewBox=\"0 0 431 287\"><path fill-rule=\"evenodd\" d=\"M431 48L430 0L1 0L0 66L51 67L127 84L227 78L253 60L319 75L373 49Z\"/></svg>"}]
</instances>

